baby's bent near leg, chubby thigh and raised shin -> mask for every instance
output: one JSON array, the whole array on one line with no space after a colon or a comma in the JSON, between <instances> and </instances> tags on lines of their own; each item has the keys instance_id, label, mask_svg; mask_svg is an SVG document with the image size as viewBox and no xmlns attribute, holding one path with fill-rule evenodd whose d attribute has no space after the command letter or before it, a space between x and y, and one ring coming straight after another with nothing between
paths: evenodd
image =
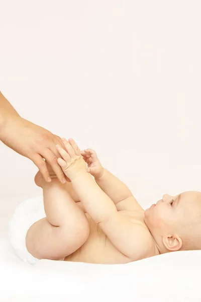
<instances>
[{"instance_id":1,"label":"baby's bent near leg, chubby thigh and raised shin","mask_svg":"<svg viewBox=\"0 0 201 302\"><path fill-rule=\"evenodd\" d=\"M38 259L60 260L76 251L89 236L83 210L57 178L42 181L46 218L35 222L26 236L29 253Z\"/></svg>"}]
</instances>

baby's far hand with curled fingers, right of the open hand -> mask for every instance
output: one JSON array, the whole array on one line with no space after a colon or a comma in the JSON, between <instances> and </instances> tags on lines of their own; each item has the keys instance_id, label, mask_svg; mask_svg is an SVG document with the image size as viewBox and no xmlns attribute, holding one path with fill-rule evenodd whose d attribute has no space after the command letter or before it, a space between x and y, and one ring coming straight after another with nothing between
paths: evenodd
<instances>
[{"instance_id":1,"label":"baby's far hand with curled fingers, right of the open hand","mask_svg":"<svg viewBox=\"0 0 201 302\"><path fill-rule=\"evenodd\" d=\"M92 149L84 149L81 151L81 155L88 165L87 172L96 179L102 177L104 174L104 168L100 164L95 151Z\"/></svg>"}]
</instances>

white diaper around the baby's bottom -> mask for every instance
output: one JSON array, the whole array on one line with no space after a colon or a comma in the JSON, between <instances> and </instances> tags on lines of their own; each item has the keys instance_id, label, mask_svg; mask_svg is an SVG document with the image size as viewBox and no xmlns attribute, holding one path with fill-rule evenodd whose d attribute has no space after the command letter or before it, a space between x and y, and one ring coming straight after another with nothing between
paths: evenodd
<instances>
[{"instance_id":1,"label":"white diaper around the baby's bottom","mask_svg":"<svg viewBox=\"0 0 201 302\"><path fill-rule=\"evenodd\" d=\"M45 216L43 197L38 196L23 201L17 207L9 222L11 245L20 259L32 265L34 265L38 259L27 251L25 243L26 234L34 222Z\"/></svg>"}]
</instances>

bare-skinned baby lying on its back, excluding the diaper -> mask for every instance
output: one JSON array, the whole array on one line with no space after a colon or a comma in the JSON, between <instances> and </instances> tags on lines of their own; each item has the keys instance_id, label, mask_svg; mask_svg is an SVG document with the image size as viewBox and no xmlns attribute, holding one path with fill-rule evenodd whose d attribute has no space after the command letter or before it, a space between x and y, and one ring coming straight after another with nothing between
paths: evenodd
<instances>
[{"instance_id":1,"label":"bare-skinned baby lying on its back, excluding the diaper","mask_svg":"<svg viewBox=\"0 0 201 302\"><path fill-rule=\"evenodd\" d=\"M73 139L62 140L65 149L56 146L58 164L71 182L61 184L50 171L52 181L47 183L37 173L46 217L27 232L26 247L32 256L118 264L201 249L200 192L165 194L144 211L92 149L80 152Z\"/></svg>"}]
</instances>

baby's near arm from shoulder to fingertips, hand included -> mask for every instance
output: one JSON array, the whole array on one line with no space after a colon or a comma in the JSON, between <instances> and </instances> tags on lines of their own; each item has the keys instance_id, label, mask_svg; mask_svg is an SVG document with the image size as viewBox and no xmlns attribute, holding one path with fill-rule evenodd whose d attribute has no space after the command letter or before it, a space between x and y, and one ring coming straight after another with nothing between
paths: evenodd
<instances>
[{"instance_id":1,"label":"baby's near arm from shoulder to fingertips, hand included","mask_svg":"<svg viewBox=\"0 0 201 302\"><path fill-rule=\"evenodd\" d=\"M112 199L87 173L80 151L71 139L63 140L67 152L57 145L62 156L58 163L71 180L73 189L91 218L99 224L113 245L131 260L149 256L153 248L150 232L140 221L131 221L118 211Z\"/></svg>"}]
</instances>

